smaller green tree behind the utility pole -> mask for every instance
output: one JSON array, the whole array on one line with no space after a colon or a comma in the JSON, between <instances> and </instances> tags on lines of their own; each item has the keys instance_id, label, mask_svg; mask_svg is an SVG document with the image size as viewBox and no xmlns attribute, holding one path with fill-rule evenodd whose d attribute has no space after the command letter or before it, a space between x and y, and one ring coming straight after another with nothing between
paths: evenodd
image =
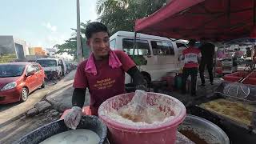
<instances>
[{"instance_id":1,"label":"smaller green tree behind the utility pole","mask_svg":"<svg viewBox=\"0 0 256 144\"><path fill-rule=\"evenodd\" d=\"M81 39L82 39L82 51L83 51L83 57L87 58L90 54L90 49L86 45L86 26L90 21L87 21L86 23L81 23ZM76 29L74 30L74 34L72 34L72 37L67 39L63 44L57 44L54 47L58 49L58 51L55 54L70 54L74 57L74 59L77 59L77 37L76 37Z\"/></svg>"}]
</instances>

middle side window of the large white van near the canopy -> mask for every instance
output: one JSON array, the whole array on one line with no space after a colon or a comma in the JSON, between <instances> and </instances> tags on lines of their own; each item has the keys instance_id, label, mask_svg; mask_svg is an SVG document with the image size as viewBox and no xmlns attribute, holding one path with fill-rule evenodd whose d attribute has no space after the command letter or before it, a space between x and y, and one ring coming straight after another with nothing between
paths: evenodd
<instances>
[{"instance_id":1,"label":"middle side window of the large white van near the canopy","mask_svg":"<svg viewBox=\"0 0 256 144\"><path fill-rule=\"evenodd\" d=\"M154 55L174 55L174 46L171 42L151 41Z\"/></svg>"}]
</instances>

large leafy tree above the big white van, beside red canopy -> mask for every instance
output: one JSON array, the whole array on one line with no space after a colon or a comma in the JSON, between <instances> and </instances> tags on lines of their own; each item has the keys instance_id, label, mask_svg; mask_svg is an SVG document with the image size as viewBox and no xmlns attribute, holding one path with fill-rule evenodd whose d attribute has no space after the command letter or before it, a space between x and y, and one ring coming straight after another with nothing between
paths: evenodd
<instances>
[{"instance_id":1,"label":"large leafy tree above the big white van, beside red canopy","mask_svg":"<svg viewBox=\"0 0 256 144\"><path fill-rule=\"evenodd\" d=\"M99 20L110 34L118 30L134 31L135 20L153 14L166 5L166 0L98 0Z\"/></svg>"}]
</instances>

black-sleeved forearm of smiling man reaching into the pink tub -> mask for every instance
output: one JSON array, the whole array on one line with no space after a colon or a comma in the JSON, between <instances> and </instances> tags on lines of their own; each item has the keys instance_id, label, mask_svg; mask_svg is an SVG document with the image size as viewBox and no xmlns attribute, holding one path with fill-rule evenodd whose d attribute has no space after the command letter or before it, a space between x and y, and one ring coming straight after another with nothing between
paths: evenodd
<instances>
[{"instance_id":1,"label":"black-sleeved forearm of smiling man reaching into the pink tub","mask_svg":"<svg viewBox=\"0 0 256 144\"><path fill-rule=\"evenodd\" d=\"M127 73L133 78L134 85L136 89L146 90L147 83L143 78L141 72L138 70L137 66L131 67Z\"/></svg>"}]
</instances>

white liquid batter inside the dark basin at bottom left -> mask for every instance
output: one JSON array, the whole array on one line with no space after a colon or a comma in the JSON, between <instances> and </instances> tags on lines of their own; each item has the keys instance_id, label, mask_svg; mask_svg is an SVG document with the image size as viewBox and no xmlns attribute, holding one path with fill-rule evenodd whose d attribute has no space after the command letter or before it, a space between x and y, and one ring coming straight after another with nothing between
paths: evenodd
<instances>
[{"instance_id":1,"label":"white liquid batter inside the dark basin at bottom left","mask_svg":"<svg viewBox=\"0 0 256 144\"><path fill-rule=\"evenodd\" d=\"M40 144L98 144L100 138L92 130L69 130L47 138Z\"/></svg>"}]
</instances>

